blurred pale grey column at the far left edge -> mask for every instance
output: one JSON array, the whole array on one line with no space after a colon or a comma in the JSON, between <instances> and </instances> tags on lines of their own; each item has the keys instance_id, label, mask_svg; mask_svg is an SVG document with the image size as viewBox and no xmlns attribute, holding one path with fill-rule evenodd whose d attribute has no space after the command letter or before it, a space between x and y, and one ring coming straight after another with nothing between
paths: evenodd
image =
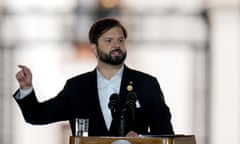
<instances>
[{"instance_id":1,"label":"blurred pale grey column at the far left edge","mask_svg":"<svg viewBox=\"0 0 240 144\"><path fill-rule=\"evenodd\" d=\"M0 46L0 143L11 144L12 137L12 50Z\"/></svg>"}]
</instances>

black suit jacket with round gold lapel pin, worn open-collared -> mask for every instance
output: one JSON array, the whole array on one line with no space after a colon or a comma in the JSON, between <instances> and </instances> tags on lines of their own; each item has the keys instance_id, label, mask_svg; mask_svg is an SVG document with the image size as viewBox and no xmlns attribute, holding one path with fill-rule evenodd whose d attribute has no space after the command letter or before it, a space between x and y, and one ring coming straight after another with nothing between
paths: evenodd
<instances>
[{"instance_id":1,"label":"black suit jacket with round gold lapel pin, worn open-collared","mask_svg":"<svg viewBox=\"0 0 240 144\"><path fill-rule=\"evenodd\" d=\"M140 107L136 109L135 120L126 128L126 133L133 130L139 134L174 134L171 114L156 78L124 66L119 94L121 106L125 104L129 85L136 92ZM33 91L16 101L25 120L31 124L68 120L74 134L74 119L88 118L89 136L118 135L113 125L110 130L105 125L98 97L96 69L69 79L63 90L50 100L39 103Z\"/></svg>"}]
</instances>

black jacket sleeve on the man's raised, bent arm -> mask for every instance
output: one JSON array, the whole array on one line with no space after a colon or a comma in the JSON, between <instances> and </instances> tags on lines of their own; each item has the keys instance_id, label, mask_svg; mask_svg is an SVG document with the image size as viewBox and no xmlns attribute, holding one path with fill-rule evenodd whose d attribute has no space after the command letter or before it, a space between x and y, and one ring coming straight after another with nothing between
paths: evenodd
<instances>
[{"instance_id":1,"label":"black jacket sleeve on the man's raised, bent arm","mask_svg":"<svg viewBox=\"0 0 240 144\"><path fill-rule=\"evenodd\" d=\"M39 102L33 90L23 99L16 99L19 90L13 97L19 105L26 122L31 124L48 124L56 121L66 120L69 116L69 98L67 86L54 98Z\"/></svg>"}]
</instances>

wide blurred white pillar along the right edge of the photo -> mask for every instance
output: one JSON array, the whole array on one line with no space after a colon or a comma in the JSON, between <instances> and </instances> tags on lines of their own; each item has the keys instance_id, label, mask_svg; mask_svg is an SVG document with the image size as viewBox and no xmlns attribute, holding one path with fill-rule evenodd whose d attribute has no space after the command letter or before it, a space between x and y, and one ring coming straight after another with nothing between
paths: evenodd
<instances>
[{"instance_id":1,"label":"wide blurred white pillar along the right edge of the photo","mask_svg":"<svg viewBox=\"0 0 240 144\"><path fill-rule=\"evenodd\" d=\"M239 9L210 13L211 122L210 144L240 143Z\"/></svg>"}]
</instances>

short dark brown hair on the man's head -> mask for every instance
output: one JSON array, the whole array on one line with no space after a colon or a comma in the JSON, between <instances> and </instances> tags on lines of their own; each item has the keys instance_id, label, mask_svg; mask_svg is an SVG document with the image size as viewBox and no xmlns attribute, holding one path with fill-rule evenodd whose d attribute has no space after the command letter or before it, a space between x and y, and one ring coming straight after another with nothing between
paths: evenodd
<instances>
[{"instance_id":1,"label":"short dark brown hair on the man's head","mask_svg":"<svg viewBox=\"0 0 240 144\"><path fill-rule=\"evenodd\" d=\"M90 28L88 37L90 43L98 44L98 38L113 27L120 27L123 31L124 38L127 38L127 30L114 18L102 18L97 20Z\"/></svg>"}]
</instances>

